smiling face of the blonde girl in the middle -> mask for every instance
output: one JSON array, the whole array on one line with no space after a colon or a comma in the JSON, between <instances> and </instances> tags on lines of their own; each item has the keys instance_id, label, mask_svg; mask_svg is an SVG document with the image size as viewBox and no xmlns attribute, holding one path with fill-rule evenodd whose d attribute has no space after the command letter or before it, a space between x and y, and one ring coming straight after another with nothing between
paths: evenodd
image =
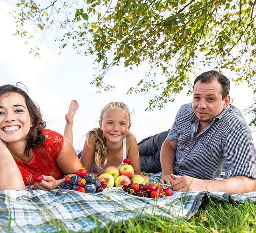
<instances>
[{"instance_id":1,"label":"smiling face of the blonde girl in the middle","mask_svg":"<svg viewBox=\"0 0 256 233\"><path fill-rule=\"evenodd\" d=\"M100 129L106 140L118 143L126 137L131 127L129 116L123 109L108 109L100 121Z\"/></svg>"}]
</instances>

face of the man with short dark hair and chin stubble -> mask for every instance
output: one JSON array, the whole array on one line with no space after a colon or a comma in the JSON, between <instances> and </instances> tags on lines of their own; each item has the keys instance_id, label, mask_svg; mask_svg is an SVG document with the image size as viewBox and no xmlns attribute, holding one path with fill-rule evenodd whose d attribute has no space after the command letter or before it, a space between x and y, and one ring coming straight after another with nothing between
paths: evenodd
<instances>
[{"instance_id":1,"label":"face of the man with short dark hair and chin stubble","mask_svg":"<svg viewBox=\"0 0 256 233\"><path fill-rule=\"evenodd\" d=\"M222 100L222 86L217 79L205 84L196 82L193 92L192 107L200 123L208 125L218 116L230 101L227 95Z\"/></svg>"}]
</instances>

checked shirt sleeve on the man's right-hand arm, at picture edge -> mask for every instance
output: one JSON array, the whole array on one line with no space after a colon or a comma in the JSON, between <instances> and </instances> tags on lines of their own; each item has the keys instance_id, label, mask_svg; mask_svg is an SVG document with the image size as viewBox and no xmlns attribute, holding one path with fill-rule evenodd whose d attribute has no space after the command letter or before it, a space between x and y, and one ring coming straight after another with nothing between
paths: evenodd
<instances>
[{"instance_id":1,"label":"checked shirt sleeve on the man's right-hand arm, at picture edge","mask_svg":"<svg viewBox=\"0 0 256 233\"><path fill-rule=\"evenodd\" d=\"M223 139L223 165L227 178L256 178L256 150L248 127L232 129Z\"/></svg>"}]
</instances>

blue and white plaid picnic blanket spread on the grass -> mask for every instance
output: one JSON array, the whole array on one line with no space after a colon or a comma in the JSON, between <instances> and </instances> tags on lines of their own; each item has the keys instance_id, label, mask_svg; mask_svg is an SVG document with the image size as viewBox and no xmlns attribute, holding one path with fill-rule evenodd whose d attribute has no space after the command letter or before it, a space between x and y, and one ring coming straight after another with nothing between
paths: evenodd
<instances>
[{"instance_id":1,"label":"blue and white plaid picnic blanket spread on the grass","mask_svg":"<svg viewBox=\"0 0 256 233\"><path fill-rule=\"evenodd\" d=\"M150 182L158 181L161 172L148 174ZM90 231L112 226L122 220L164 216L175 221L190 219L201 203L209 198L224 202L256 202L256 191L246 194L175 192L170 197L137 198L121 188L106 188L97 194L73 190L3 190L0 191L0 231L58 232L58 226L68 231Z\"/></svg>"}]
</instances>

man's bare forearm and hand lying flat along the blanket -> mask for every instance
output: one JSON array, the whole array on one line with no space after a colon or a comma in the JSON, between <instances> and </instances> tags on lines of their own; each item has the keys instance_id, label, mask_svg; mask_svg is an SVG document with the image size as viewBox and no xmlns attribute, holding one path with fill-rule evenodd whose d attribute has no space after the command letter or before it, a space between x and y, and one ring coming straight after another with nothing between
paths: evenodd
<instances>
[{"instance_id":1,"label":"man's bare forearm and hand lying flat along the blanket","mask_svg":"<svg viewBox=\"0 0 256 233\"><path fill-rule=\"evenodd\" d=\"M175 176L173 174L170 176L174 191L208 191L229 194L256 191L256 179L246 176L235 176L224 180L201 180L190 176Z\"/></svg>"}]
</instances>

